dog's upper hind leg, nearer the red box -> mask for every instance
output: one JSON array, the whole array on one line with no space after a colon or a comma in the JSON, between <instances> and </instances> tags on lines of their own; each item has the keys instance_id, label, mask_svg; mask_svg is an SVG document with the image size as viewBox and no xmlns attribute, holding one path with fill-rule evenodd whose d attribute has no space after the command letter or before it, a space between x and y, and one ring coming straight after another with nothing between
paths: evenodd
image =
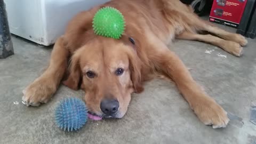
<instances>
[{"instance_id":1,"label":"dog's upper hind leg, nearer the red box","mask_svg":"<svg viewBox=\"0 0 256 144\"><path fill-rule=\"evenodd\" d=\"M242 35L229 33L226 30L215 27L213 23L209 21L202 20L193 12L190 6L182 4L180 1L161 0L161 2L164 7L165 18L170 23L179 23L179 25L184 26L187 31L194 31L193 29L208 31L227 41L236 42L241 46L247 44L247 40Z\"/></svg>"}]
</instances>

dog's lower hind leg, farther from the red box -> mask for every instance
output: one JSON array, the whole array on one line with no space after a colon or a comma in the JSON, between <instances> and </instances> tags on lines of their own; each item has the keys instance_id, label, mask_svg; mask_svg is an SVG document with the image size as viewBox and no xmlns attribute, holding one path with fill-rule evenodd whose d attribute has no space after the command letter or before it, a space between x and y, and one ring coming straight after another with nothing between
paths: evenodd
<instances>
[{"instance_id":1,"label":"dog's lower hind leg, farther from the red box","mask_svg":"<svg viewBox=\"0 0 256 144\"><path fill-rule=\"evenodd\" d=\"M179 39L187 39L193 41L201 41L205 43L210 43L212 45L216 45L221 47L223 50L240 57L243 52L243 47L241 47L238 43L233 41L227 41L225 39L221 39L212 35L201 35L201 34L193 34L187 31L184 31L180 35L176 36Z\"/></svg>"}]
</instances>

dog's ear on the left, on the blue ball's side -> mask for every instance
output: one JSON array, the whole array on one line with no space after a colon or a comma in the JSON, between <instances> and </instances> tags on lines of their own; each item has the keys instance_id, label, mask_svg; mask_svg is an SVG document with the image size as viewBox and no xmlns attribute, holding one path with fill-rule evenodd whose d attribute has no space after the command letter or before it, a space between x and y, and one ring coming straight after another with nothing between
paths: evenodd
<instances>
[{"instance_id":1,"label":"dog's ear on the left, on the blue ball's side","mask_svg":"<svg viewBox=\"0 0 256 144\"><path fill-rule=\"evenodd\" d=\"M80 53L76 51L71 57L70 65L68 68L68 78L62 83L70 89L78 90L79 82L81 79L81 68L79 65Z\"/></svg>"}]
</instances>

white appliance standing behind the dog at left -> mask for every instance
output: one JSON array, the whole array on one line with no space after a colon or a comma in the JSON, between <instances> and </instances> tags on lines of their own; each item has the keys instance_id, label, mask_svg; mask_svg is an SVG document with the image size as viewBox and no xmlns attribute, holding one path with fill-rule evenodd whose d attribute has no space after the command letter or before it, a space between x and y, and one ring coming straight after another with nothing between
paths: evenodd
<instances>
[{"instance_id":1,"label":"white appliance standing behind the dog at left","mask_svg":"<svg viewBox=\"0 0 256 144\"><path fill-rule=\"evenodd\" d=\"M42 45L51 45L78 12L109 0L4 0L10 31Z\"/></svg>"}]
</instances>

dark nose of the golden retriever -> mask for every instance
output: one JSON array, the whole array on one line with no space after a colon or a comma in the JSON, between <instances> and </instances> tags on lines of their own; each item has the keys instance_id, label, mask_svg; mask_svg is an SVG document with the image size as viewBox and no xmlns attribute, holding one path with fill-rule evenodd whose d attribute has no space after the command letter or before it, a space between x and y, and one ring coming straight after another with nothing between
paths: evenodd
<instances>
[{"instance_id":1,"label":"dark nose of the golden retriever","mask_svg":"<svg viewBox=\"0 0 256 144\"><path fill-rule=\"evenodd\" d=\"M119 102L115 99L103 99L100 102L101 111L108 116L115 114L118 108Z\"/></svg>"}]
</instances>

